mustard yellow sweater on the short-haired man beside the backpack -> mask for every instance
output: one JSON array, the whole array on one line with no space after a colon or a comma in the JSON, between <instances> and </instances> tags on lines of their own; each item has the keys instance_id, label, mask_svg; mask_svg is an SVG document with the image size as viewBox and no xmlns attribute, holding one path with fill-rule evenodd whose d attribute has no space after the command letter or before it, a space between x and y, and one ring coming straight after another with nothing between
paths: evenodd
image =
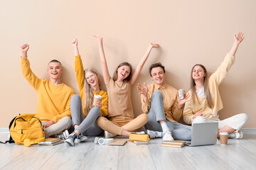
<instances>
[{"instance_id":1,"label":"mustard yellow sweater on the short-haired man beside the backpack","mask_svg":"<svg viewBox=\"0 0 256 170\"><path fill-rule=\"evenodd\" d=\"M74 94L73 89L65 84L53 85L48 79L39 79L31 71L28 58L21 57L21 71L38 93L36 115L42 121L53 120L58 122L61 118L68 116L71 118L70 99Z\"/></svg>"}]
</instances>

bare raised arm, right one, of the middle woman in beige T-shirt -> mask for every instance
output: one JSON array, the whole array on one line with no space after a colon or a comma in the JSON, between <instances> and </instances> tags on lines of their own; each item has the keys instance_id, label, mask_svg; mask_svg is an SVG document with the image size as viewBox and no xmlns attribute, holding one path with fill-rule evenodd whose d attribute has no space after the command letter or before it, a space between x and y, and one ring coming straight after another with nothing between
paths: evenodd
<instances>
[{"instance_id":1,"label":"bare raised arm, right one, of the middle woman in beige T-shirt","mask_svg":"<svg viewBox=\"0 0 256 170\"><path fill-rule=\"evenodd\" d=\"M138 66L136 67L136 69L134 71L134 74L132 74L132 79L131 79L131 84L132 85L135 83L135 81L139 77L139 73L142 71L142 67L144 66L147 58L149 57L149 54L150 54L152 48L154 48L154 47L159 48L160 46L158 44L153 44L153 43L149 44L149 47L147 48L144 56L142 57L142 60L140 60Z\"/></svg>"}]
</instances>

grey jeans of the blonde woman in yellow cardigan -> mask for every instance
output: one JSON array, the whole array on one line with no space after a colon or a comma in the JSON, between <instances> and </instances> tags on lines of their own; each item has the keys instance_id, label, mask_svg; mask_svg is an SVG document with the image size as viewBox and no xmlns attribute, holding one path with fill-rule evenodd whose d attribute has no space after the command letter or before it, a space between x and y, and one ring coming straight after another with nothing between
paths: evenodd
<instances>
[{"instance_id":1,"label":"grey jeans of the blonde woman in yellow cardigan","mask_svg":"<svg viewBox=\"0 0 256 170\"><path fill-rule=\"evenodd\" d=\"M86 118L82 113L82 101L78 94L72 96L70 101L70 109L72 115L72 125L79 125L75 130L79 130L83 135L98 136L103 130L97 125L97 118L101 116L100 108L93 107Z\"/></svg>"}]
</instances>

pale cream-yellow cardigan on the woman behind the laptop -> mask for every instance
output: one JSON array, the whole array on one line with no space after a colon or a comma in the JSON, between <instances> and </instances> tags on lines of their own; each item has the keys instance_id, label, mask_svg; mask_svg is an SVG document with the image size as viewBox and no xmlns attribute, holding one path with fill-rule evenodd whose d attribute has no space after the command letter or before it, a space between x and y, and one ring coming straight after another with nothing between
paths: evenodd
<instances>
[{"instance_id":1,"label":"pale cream-yellow cardigan on the woman behind the laptop","mask_svg":"<svg viewBox=\"0 0 256 170\"><path fill-rule=\"evenodd\" d=\"M198 96L199 101L193 102L193 100L186 102L183 109L183 120L185 123L191 124L193 121L193 115L196 112L200 112L206 118L213 118L218 115L218 111L223 108L223 103L220 98L220 91L218 86L223 81L223 79L228 75L228 71L235 62L235 56L227 54L224 61L220 64L218 69L210 75L208 79L208 88L210 91L210 97L213 102L213 107L208 106L207 100L205 97ZM191 94L191 90L188 91Z\"/></svg>"}]
</instances>

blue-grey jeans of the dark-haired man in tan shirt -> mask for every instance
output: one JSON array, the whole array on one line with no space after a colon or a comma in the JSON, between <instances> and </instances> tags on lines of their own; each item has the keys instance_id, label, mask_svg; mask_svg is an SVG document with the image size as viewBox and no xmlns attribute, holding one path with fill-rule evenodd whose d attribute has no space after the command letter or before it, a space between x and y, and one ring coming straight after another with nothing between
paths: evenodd
<instances>
[{"instance_id":1,"label":"blue-grey jeans of the dark-haired man in tan shirt","mask_svg":"<svg viewBox=\"0 0 256 170\"><path fill-rule=\"evenodd\" d=\"M191 140L191 126L177 122L172 123L166 120L164 113L164 96L161 94L161 91L154 91L151 96L148 118L149 120L145 125L146 130L163 131L159 121L165 120L174 140Z\"/></svg>"}]
</instances>

